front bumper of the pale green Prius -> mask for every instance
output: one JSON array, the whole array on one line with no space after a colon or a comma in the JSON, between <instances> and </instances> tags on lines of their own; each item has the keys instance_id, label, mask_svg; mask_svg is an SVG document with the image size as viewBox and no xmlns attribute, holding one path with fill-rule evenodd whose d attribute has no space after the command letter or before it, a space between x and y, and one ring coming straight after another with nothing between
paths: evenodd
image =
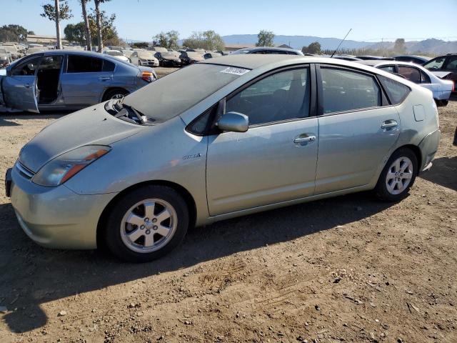
<instances>
[{"instance_id":1,"label":"front bumper of the pale green Prius","mask_svg":"<svg viewBox=\"0 0 457 343\"><path fill-rule=\"evenodd\" d=\"M24 232L44 247L95 249L104 208L116 194L79 195L64 185L42 187L11 170L11 204Z\"/></svg>"}]
</instances>

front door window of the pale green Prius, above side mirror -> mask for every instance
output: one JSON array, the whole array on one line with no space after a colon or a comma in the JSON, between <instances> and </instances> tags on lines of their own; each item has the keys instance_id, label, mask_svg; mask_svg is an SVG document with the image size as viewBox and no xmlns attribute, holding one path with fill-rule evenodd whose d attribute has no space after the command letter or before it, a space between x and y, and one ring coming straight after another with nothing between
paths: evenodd
<instances>
[{"instance_id":1,"label":"front door window of the pale green Prius, above side mirror","mask_svg":"<svg viewBox=\"0 0 457 343\"><path fill-rule=\"evenodd\" d=\"M249 125L309 116L308 68L266 76L226 101L226 111L246 114Z\"/></svg>"}]
</instances>

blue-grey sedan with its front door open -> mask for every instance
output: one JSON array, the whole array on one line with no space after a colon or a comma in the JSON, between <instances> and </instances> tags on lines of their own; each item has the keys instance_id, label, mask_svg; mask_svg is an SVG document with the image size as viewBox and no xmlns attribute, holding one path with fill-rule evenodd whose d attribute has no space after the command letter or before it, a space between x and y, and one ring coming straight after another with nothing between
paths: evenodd
<instances>
[{"instance_id":1,"label":"blue-grey sedan with its front door open","mask_svg":"<svg viewBox=\"0 0 457 343\"><path fill-rule=\"evenodd\" d=\"M154 69L108 54L48 50L15 61L0 78L7 106L38 112L81 109L136 91L157 79Z\"/></svg>"}]
</instances>

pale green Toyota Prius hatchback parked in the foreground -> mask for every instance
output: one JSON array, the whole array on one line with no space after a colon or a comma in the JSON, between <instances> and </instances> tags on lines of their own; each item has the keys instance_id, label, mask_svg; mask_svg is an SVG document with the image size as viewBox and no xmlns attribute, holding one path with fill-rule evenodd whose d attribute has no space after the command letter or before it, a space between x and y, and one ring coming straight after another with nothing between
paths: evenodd
<instances>
[{"instance_id":1,"label":"pale green Toyota Prius hatchback parked in the foreground","mask_svg":"<svg viewBox=\"0 0 457 343\"><path fill-rule=\"evenodd\" d=\"M386 71L224 56L54 121L6 192L38 244L146 262L221 219L370 189L396 202L439 138L431 91Z\"/></svg>"}]
</instances>

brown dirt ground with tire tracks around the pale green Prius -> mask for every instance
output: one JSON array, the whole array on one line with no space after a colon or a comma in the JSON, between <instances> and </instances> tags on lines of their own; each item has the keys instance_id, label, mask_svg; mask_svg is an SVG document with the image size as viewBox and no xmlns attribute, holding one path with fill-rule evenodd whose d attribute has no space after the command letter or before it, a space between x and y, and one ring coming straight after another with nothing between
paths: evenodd
<instances>
[{"instance_id":1,"label":"brown dirt ground with tire tracks around the pale green Prius","mask_svg":"<svg viewBox=\"0 0 457 343\"><path fill-rule=\"evenodd\" d=\"M231 219L149 264L44 249L17 224L4 171L58 117L0 116L0 342L457 342L457 101L403 202Z\"/></svg>"}]
</instances>

